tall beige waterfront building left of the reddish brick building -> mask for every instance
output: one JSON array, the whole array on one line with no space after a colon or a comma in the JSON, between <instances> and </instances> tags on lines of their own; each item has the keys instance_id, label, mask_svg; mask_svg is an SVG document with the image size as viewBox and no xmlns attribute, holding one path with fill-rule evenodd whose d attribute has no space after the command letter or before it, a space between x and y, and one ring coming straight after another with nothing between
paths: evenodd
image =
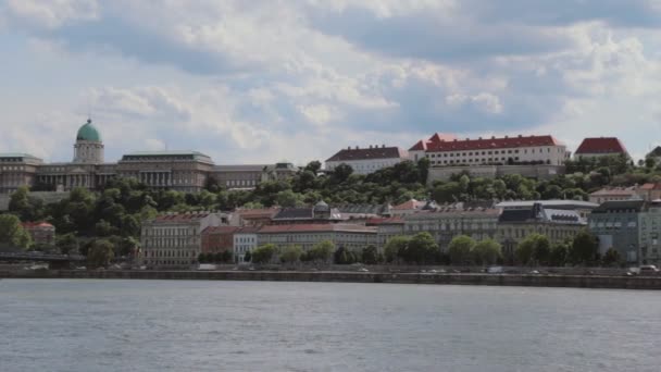
<instances>
[{"instance_id":1,"label":"tall beige waterfront building left of the reddish brick building","mask_svg":"<svg viewBox=\"0 0 661 372\"><path fill-rule=\"evenodd\" d=\"M202 232L227 222L226 214L214 212L166 213L144 221L144 263L152 268L190 266L202 252Z\"/></svg>"}]
</instances>

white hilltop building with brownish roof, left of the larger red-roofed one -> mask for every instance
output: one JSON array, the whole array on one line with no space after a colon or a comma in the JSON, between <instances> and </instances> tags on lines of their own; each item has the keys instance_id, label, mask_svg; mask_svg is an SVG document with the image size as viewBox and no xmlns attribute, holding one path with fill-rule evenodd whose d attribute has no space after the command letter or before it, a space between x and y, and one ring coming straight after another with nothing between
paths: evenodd
<instances>
[{"instance_id":1,"label":"white hilltop building with brownish roof, left of the larger red-roofed one","mask_svg":"<svg viewBox=\"0 0 661 372\"><path fill-rule=\"evenodd\" d=\"M326 171L333 172L338 165L347 164L353 169L353 173L370 174L404 160L409 160L409 153L399 147L386 147L385 145L366 148L348 147L326 159Z\"/></svg>"}]
</instances>

